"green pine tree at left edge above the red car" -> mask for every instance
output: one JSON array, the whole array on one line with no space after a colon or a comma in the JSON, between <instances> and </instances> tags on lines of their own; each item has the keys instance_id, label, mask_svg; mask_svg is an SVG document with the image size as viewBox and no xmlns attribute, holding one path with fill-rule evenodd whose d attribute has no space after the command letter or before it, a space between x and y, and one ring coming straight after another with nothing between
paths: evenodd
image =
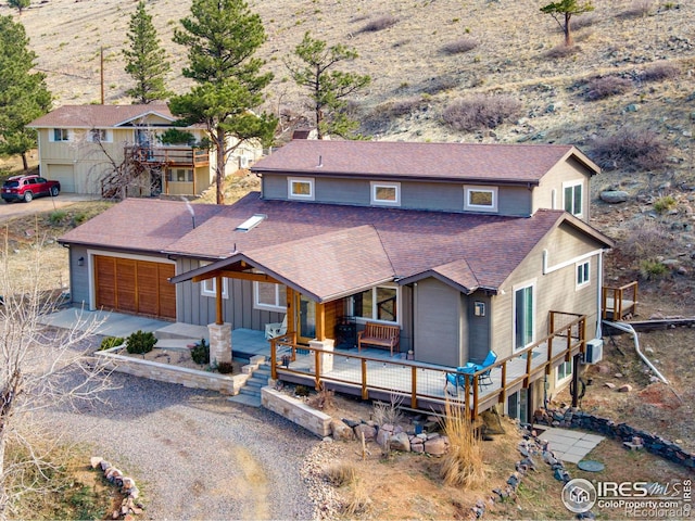
<instances>
[{"instance_id":1,"label":"green pine tree at left edge above the red car","mask_svg":"<svg viewBox=\"0 0 695 521\"><path fill-rule=\"evenodd\" d=\"M31 73L36 53L28 49L24 26L12 16L0 16L0 154L22 155L36 148L36 130L26 128L51 107L46 75Z\"/></svg>"}]
</instances>

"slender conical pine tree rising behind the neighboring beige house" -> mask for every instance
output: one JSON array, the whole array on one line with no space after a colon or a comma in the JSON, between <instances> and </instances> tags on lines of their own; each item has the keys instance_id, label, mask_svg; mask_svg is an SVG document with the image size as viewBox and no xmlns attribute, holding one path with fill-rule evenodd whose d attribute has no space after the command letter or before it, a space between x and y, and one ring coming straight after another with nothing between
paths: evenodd
<instances>
[{"instance_id":1,"label":"slender conical pine tree rising behind the neighboring beige house","mask_svg":"<svg viewBox=\"0 0 695 521\"><path fill-rule=\"evenodd\" d=\"M144 2L138 3L136 12L130 16L128 30L129 49L124 49L126 73L135 79L135 87L126 93L135 103L151 103L164 100L172 92L166 90L164 78L172 68L166 59L166 51L160 46L152 16L144 9Z\"/></svg>"}]
</instances>

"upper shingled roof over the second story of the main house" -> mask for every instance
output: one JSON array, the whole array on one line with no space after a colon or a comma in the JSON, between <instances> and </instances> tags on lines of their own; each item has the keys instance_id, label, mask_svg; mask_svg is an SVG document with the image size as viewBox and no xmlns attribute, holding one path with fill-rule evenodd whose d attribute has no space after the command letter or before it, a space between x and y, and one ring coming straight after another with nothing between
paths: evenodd
<instances>
[{"instance_id":1,"label":"upper shingled roof over the second story of the main house","mask_svg":"<svg viewBox=\"0 0 695 521\"><path fill-rule=\"evenodd\" d=\"M538 185L573 157L591 175L599 168L569 144L420 143L298 139L258 161L257 174Z\"/></svg>"}]
</instances>

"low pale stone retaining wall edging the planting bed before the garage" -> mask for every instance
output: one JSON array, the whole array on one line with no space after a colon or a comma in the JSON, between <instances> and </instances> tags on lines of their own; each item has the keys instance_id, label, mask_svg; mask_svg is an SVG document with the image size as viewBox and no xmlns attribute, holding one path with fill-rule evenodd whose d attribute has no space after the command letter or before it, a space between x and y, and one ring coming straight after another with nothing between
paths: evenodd
<instances>
[{"instance_id":1,"label":"low pale stone retaining wall edging the planting bed before the garage","mask_svg":"<svg viewBox=\"0 0 695 521\"><path fill-rule=\"evenodd\" d=\"M237 395L253 371L241 374L219 374L217 372L198 371L186 367L176 367L159 361L142 360L131 356L118 355L122 347L98 351L94 356L103 359L105 366L117 372L135 377L149 378L160 382L178 383L186 387L207 389L223 394Z\"/></svg>"}]
</instances>

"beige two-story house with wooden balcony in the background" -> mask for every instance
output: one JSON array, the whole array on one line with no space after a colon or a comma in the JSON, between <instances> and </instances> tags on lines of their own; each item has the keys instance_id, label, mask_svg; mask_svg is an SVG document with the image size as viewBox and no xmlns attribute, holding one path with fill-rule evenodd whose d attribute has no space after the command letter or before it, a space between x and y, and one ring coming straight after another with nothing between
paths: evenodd
<instances>
[{"instance_id":1,"label":"beige two-story house with wooden balcony in the background","mask_svg":"<svg viewBox=\"0 0 695 521\"><path fill-rule=\"evenodd\" d=\"M65 105L28 126L38 130L41 175L59 180L64 192L112 196L123 186L117 169L137 178L128 195L200 194L214 180L211 151L201 147L205 130L175 122L164 104ZM174 128L188 132L191 142L162 143ZM249 167L261 152L243 143L231 154L229 170Z\"/></svg>"}]
</instances>

